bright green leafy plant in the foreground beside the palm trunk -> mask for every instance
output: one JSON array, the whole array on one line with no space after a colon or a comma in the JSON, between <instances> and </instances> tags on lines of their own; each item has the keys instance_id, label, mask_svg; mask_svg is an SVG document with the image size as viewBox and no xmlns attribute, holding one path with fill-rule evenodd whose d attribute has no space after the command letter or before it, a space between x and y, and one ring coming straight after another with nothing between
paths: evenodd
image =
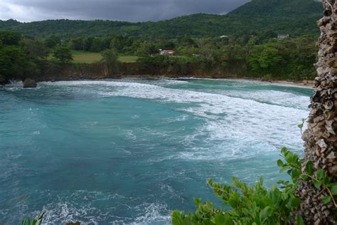
<instances>
[{"instance_id":1,"label":"bright green leafy plant in the foreground beside the palm trunk","mask_svg":"<svg viewBox=\"0 0 337 225\"><path fill-rule=\"evenodd\" d=\"M304 224L300 214L294 215L294 211L301 204L301 199L296 197L296 188L301 179L311 179L314 186L328 195L322 199L323 204L336 202L333 196L337 194L337 184L331 183L324 174L323 169L318 169L314 173L313 163L308 162L304 172L301 171L299 156L282 148L282 159L277 160L280 172L287 172L291 177L291 182L280 180L278 185L273 185L268 190L263 185L261 178L257 184L247 186L236 177L232 178L232 186L229 184L219 184L208 180L208 186L213 189L217 197L222 200L225 209L218 208L212 202L201 202L195 199L196 212L185 214L181 211L173 211L173 224ZM336 206L337 207L337 206Z\"/></svg>"}]
</instances>

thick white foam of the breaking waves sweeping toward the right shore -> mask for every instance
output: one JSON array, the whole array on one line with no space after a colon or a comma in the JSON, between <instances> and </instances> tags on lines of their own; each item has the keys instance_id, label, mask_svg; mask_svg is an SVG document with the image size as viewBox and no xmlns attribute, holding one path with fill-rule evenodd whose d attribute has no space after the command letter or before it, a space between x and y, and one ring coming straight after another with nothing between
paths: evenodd
<instances>
[{"instance_id":1,"label":"thick white foam of the breaking waves sweeping toward the right shore","mask_svg":"<svg viewBox=\"0 0 337 225\"><path fill-rule=\"evenodd\" d=\"M225 93L203 93L121 81L60 81L44 84L91 85L97 93L106 97L124 96L161 103L193 103L194 106L182 106L180 110L207 121L201 132L208 132L210 140L226 140L226 137L232 138L234 135L240 142L247 140L247 145L254 140L260 140L268 143L271 149L283 145L301 149L302 141L297 125L301 118L309 115L303 105L300 108L295 107L296 104L309 103L309 98L279 91L268 90L255 95L249 93L240 98ZM270 99L277 99L278 104L267 103Z\"/></svg>"}]
</instances>

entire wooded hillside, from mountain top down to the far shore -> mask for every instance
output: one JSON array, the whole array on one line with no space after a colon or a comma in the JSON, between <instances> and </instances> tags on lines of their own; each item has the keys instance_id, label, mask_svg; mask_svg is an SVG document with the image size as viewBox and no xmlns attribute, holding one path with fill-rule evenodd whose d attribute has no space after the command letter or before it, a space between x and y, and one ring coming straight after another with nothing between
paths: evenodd
<instances>
[{"instance_id":1,"label":"entire wooded hillside, from mountain top down to the far shore","mask_svg":"<svg viewBox=\"0 0 337 225\"><path fill-rule=\"evenodd\" d=\"M193 14L158 22L0 21L1 36L22 33L12 33L20 36L16 43L0 43L0 80L70 63L71 50L139 56L139 69L130 74L312 79L321 9L314 0L254 0L224 16ZM291 38L277 40L280 33ZM223 35L228 38L219 38ZM159 56L160 48L180 57ZM119 73L117 66L110 73Z\"/></svg>"}]
</instances>

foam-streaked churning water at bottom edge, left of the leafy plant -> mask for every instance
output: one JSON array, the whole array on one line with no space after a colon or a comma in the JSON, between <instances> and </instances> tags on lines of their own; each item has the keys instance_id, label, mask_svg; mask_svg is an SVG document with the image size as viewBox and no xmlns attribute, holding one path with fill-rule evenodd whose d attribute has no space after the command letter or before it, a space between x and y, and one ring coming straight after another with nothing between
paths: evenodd
<instances>
[{"instance_id":1,"label":"foam-streaked churning water at bottom edge, left of the leafy plant","mask_svg":"<svg viewBox=\"0 0 337 225\"><path fill-rule=\"evenodd\" d=\"M98 209L95 206L95 202L112 199L117 203L112 204L111 208ZM77 200L85 200L85 203L78 204ZM75 191L47 204L44 207L46 215L43 221L46 224L65 224L69 221L80 221L81 224L101 224L102 222L105 224L169 224L171 210L166 204L144 202L138 205L126 205L119 202L121 200L125 201L125 197L119 194ZM127 202L132 202L132 199L128 199ZM123 206L125 210L134 211L138 216L132 218L115 214L114 209L119 206ZM34 214L38 214L38 211Z\"/></svg>"}]
</instances>

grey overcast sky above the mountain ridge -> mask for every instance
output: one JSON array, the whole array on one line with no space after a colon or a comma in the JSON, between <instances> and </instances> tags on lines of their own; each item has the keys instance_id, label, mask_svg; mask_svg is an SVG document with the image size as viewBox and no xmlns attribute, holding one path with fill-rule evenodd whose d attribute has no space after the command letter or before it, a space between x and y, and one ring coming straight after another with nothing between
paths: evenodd
<instances>
[{"instance_id":1,"label":"grey overcast sky above the mountain ridge","mask_svg":"<svg viewBox=\"0 0 337 225\"><path fill-rule=\"evenodd\" d=\"M0 19L159 21L196 13L226 14L249 0L0 0Z\"/></svg>"}]
</instances>

